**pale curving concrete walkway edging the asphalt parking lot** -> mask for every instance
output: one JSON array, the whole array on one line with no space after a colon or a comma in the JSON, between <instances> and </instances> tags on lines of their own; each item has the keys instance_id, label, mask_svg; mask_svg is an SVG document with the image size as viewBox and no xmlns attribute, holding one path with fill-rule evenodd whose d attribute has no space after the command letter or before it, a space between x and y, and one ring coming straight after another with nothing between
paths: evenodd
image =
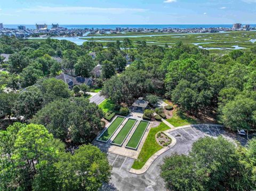
<instances>
[{"instance_id":1,"label":"pale curving concrete walkway edging the asphalt parking lot","mask_svg":"<svg viewBox=\"0 0 256 191\"><path fill-rule=\"evenodd\" d=\"M168 130L165 130L163 132L168 133L168 132L175 131L175 130L178 130L178 129L183 129L183 128L187 128L187 127L198 127L198 126L224 127L222 124L188 124L186 126L180 126L180 127L175 127L175 128L172 128L172 129L168 129ZM171 135L167 134L167 136L169 136L172 139L172 143L170 145L162 148L161 150L159 150L155 154L153 154L147 160L147 162L143 165L143 167L141 169L139 169L139 170L131 169L129 172L134 173L135 175L141 175L141 174L145 173L148 170L148 168L150 167L150 165L157 159L158 156L160 156L161 154L163 154L164 152L166 152L167 150L172 148L176 144L177 140Z\"/></svg>"}]
</instances>

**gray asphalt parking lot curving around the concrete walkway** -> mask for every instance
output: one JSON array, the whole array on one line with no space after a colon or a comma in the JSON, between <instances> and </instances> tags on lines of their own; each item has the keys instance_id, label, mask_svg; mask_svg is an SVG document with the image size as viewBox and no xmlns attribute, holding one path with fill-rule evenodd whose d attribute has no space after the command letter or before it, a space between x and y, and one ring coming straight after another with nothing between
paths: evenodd
<instances>
[{"instance_id":1,"label":"gray asphalt parking lot curving around the concrete walkway","mask_svg":"<svg viewBox=\"0 0 256 191\"><path fill-rule=\"evenodd\" d=\"M222 135L228 139L236 139L245 145L247 140L235 134L227 132L222 127L198 126L177 129L169 132L177 139L177 143L168 151L157 157L151 164L146 173L135 175L130 173L134 159L129 157L107 153L109 163L113 165L111 180L109 185L105 185L101 190L165 190L164 182L160 175L159 165L163 162L164 156L170 156L172 153L188 154L193 143L205 136L217 137Z\"/></svg>"}]
</instances>

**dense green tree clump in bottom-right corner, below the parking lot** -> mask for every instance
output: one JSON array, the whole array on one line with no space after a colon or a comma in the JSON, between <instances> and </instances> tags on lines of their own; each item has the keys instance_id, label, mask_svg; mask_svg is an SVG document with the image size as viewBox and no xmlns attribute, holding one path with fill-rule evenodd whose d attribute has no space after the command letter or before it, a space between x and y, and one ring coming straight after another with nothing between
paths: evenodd
<instances>
[{"instance_id":1,"label":"dense green tree clump in bottom-right corner, below the parking lot","mask_svg":"<svg viewBox=\"0 0 256 191\"><path fill-rule=\"evenodd\" d=\"M161 176L170 190L255 189L255 164L245 156L252 152L251 148L245 150L222 137L201 138L193 144L189 155L165 157ZM255 155L251 157L254 158Z\"/></svg>"}]
</instances>

